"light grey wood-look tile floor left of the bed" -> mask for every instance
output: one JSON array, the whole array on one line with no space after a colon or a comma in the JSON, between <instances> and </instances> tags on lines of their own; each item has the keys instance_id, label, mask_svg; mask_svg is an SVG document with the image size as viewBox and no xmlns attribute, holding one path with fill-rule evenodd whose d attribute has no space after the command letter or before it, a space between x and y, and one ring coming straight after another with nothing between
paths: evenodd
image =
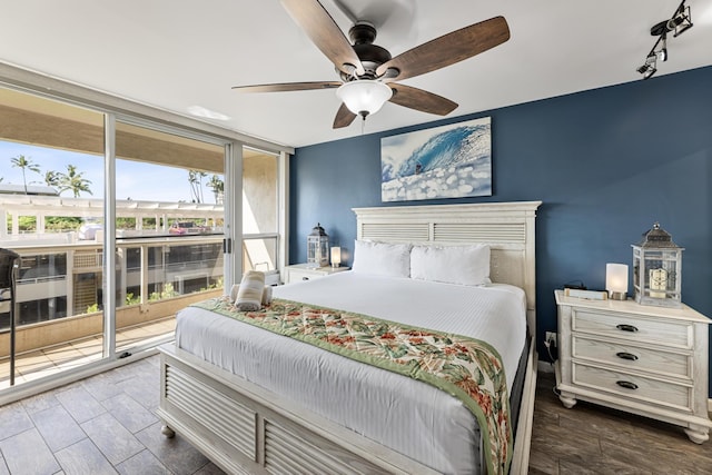
<instances>
[{"instance_id":1,"label":"light grey wood-look tile floor left of the bed","mask_svg":"<svg viewBox=\"0 0 712 475\"><path fill-rule=\"evenodd\" d=\"M158 356L0 407L0 475L222 472L160 434Z\"/></svg>"}]
</instances>

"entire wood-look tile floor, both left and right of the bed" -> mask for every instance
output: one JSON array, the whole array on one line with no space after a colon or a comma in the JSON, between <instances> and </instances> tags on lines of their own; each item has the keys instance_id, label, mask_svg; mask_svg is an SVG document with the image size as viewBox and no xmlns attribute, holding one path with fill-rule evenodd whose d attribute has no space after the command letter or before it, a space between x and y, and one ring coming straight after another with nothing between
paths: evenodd
<instances>
[{"instance_id":1,"label":"entire wood-look tile floor, both left and right of the bed","mask_svg":"<svg viewBox=\"0 0 712 475\"><path fill-rule=\"evenodd\" d=\"M158 356L0 407L0 475L222 472L160 434ZM540 373L530 474L712 474L681 428L586 403L566 409Z\"/></svg>"}]
</instances>

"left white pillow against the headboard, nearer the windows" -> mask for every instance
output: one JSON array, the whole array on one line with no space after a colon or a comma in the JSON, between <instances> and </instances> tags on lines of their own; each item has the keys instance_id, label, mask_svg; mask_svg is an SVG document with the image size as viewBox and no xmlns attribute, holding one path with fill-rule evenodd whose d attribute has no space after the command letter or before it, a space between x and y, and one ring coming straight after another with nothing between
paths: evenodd
<instances>
[{"instance_id":1,"label":"left white pillow against the headboard, nearer the windows","mask_svg":"<svg viewBox=\"0 0 712 475\"><path fill-rule=\"evenodd\" d=\"M411 245L356 240L355 273L386 277L411 276Z\"/></svg>"}]
</instances>

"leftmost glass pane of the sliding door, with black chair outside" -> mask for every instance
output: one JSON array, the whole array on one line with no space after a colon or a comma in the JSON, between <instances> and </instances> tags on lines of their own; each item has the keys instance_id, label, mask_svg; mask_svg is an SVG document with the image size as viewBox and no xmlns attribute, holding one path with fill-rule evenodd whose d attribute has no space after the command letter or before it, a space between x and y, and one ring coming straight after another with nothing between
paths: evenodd
<instances>
[{"instance_id":1,"label":"leftmost glass pane of the sliding door, with black chair outside","mask_svg":"<svg viewBox=\"0 0 712 475\"><path fill-rule=\"evenodd\" d=\"M103 212L103 120L0 88L0 248L21 256L17 305L0 304L0 388L103 357L103 243L82 234Z\"/></svg>"}]
</instances>

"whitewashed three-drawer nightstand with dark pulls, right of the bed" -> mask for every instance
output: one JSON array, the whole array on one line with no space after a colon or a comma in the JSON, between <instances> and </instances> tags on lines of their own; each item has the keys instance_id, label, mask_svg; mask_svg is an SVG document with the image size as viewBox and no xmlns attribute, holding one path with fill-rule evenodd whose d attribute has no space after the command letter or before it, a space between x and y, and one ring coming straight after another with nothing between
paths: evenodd
<instances>
[{"instance_id":1,"label":"whitewashed three-drawer nightstand with dark pulls, right of the bed","mask_svg":"<svg viewBox=\"0 0 712 475\"><path fill-rule=\"evenodd\" d=\"M683 426L696 444L709 439L710 319L688 306L554 295L556 388L565 407L587 400Z\"/></svg>"}]
</instances>

